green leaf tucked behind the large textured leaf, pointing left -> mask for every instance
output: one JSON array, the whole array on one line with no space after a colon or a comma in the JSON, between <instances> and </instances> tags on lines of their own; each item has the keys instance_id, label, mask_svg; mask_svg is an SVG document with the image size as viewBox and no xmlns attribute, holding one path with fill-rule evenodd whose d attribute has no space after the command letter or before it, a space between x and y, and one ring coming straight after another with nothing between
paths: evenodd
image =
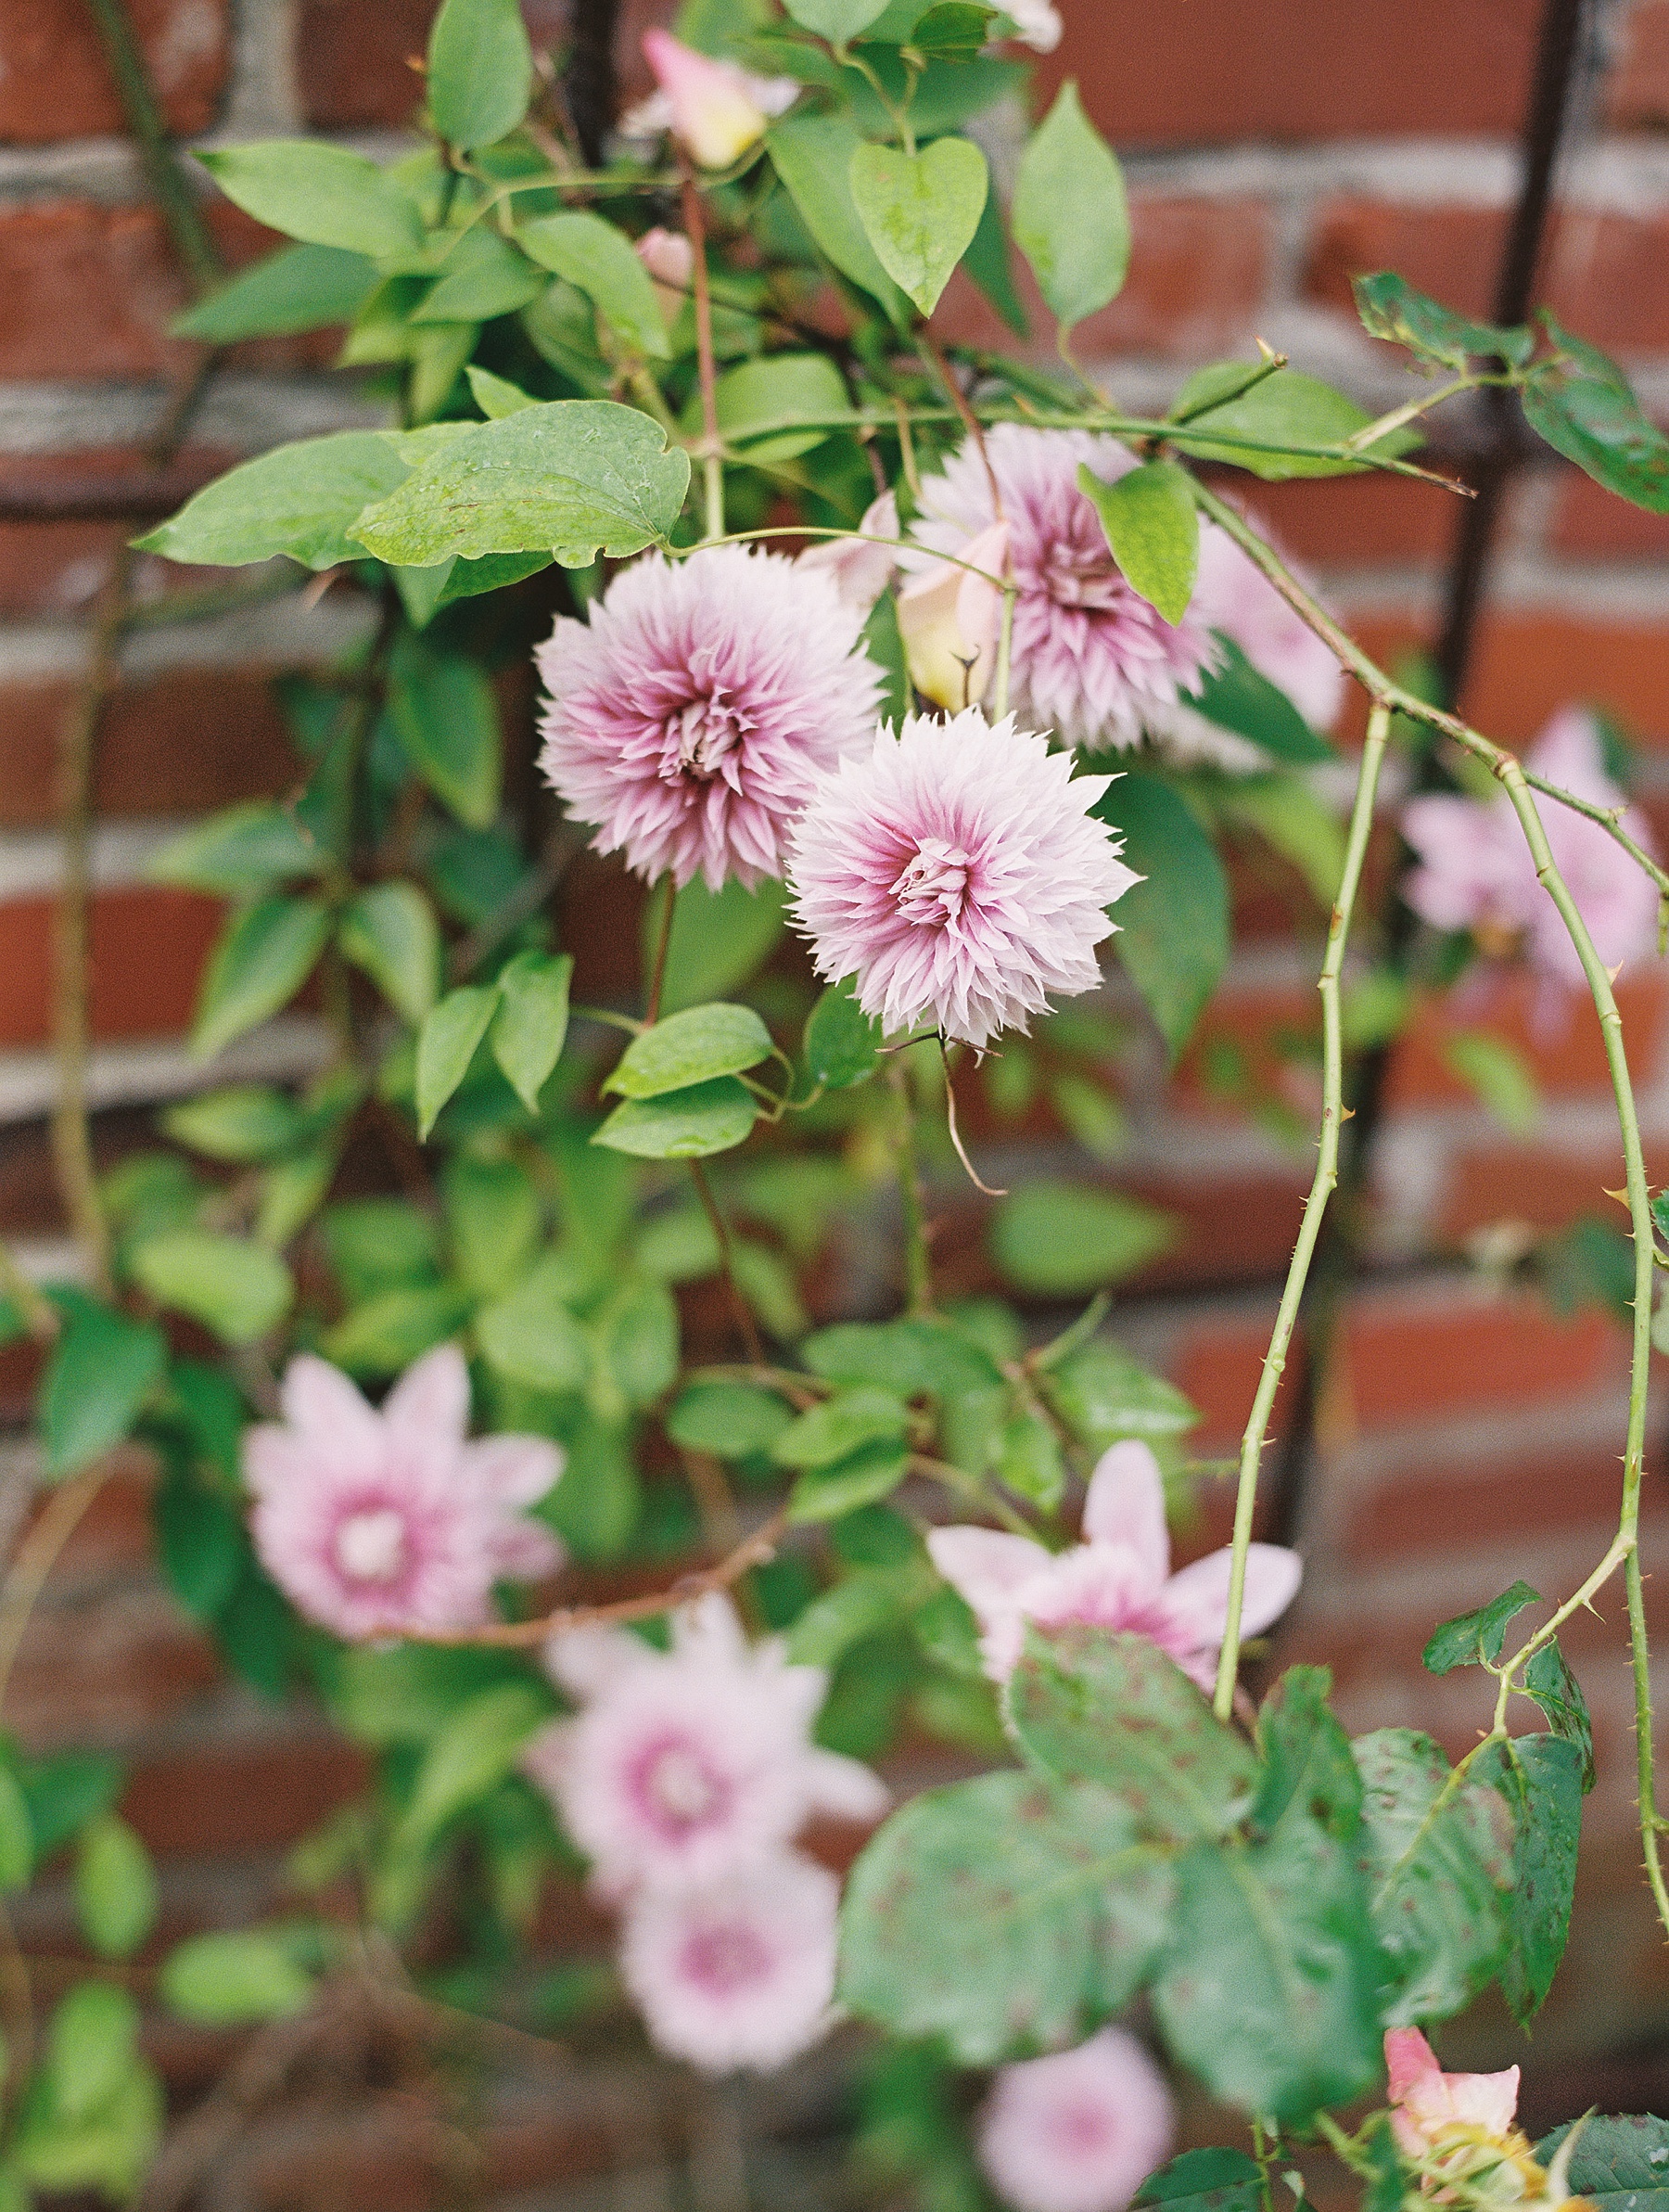
<instances>
[{"instance_id":1,"label":"green leaf tucked behind the large textured leaf, pointing left","mask_svg":"<svg viewBox=\"0 0 1669 2212\"><path fill-rule=\"evenodd\" d=\"M347 531L367 500L380 500L405 476L407 465L380 431L338 429L228 469L133 542L144 553L217 568L279 553L303 568L336 568L363 557Z\"/></svg>"}]
</instances>

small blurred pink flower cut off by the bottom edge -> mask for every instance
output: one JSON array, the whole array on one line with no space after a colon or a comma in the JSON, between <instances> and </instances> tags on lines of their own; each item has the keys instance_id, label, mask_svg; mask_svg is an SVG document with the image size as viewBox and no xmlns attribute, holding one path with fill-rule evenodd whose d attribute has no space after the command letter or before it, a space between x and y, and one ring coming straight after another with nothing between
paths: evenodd
<instances>
[{"instance_id":1,"label":"small blurred pink flower cut off by the bottom edge","mask_svg":"<svg viewBox=\"0 0 1669 2212\"><path fill-rule=\"evenodd\" d=\"M1103 2028L1077 2051L1001 2068L979 2163L1015 2212L1123 2212L1174 2135L1165 2077L1134 2035Z\"/></svg>"}]
</instances>

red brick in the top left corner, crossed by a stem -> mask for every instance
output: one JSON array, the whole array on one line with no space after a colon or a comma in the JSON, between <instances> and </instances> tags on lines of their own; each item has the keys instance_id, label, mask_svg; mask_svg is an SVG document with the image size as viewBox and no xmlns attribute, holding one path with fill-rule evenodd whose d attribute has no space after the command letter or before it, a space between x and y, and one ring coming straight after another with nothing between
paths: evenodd
<instances>
[{"instance_id":1,"label":"red brick in the top left corner, crossed by a stem","mask_svg":"<svg viewBox=\"0 0 1669 2212\"><path fill-rule=\"evenodd\" d=\"M170 131L208 131L232 60L228 0L126 0ZM0 144L126 131L84 0L7 0L0 18Z\"/></svg>"}]
</instances>

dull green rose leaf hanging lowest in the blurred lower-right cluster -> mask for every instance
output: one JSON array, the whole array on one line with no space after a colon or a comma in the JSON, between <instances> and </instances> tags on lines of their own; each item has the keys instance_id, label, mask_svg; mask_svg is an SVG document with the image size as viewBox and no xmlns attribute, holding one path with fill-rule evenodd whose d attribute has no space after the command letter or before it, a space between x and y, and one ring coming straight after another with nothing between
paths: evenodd
<instances>
[{"instance_id":1,"label":"dull green rose leaf hanging lowest in the blurred lower-right cluster","mask_svg":"<svg viewBox=\"0 0 1669 2212\"><path fill-rule=\"evenodd\" d=\"M1298 1814L1267 1845L1187 1851L1176 1891L1154 2011L1211 2095L1304 2121L1375 2081L1379 1951L1344 1845Z\"/></svg>"}]
</instances>

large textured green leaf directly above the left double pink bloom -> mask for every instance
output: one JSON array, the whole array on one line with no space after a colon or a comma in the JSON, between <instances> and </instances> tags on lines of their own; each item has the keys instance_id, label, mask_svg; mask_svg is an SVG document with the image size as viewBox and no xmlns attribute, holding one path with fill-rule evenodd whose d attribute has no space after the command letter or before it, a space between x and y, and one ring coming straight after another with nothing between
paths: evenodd
<instances>
[{"instance_id":1,"label":"large textured green leaf directly above the left double pink bloom","mask_svg":"<svg viewBox=\"0 0 1669 2212\"><path fill-rule=\"evenodd\" d=\"M378 560L429 568L451 553L555 551L564 568L623 560L668 535L690 456L612 400L548 400L484 422L356 522Z\"/></svg>"}]
</instances>

